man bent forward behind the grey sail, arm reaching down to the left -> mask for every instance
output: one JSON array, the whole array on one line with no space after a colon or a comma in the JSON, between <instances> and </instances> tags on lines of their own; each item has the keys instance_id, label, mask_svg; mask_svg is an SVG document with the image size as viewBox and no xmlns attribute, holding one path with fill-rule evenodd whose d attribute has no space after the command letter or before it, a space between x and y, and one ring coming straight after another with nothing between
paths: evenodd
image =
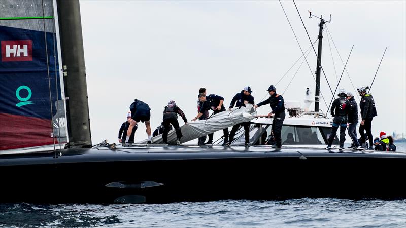
<instances>
[{"instance_id":1,"label":"man bent forward behind the grey sail, arm reaching down to the left","mask_svg":"<svg viewBox=\"0 0 406 228\"><path fill-rule=\"evenodd\" d=\"M193 118L192 121L196 121L199 119L204 113L208 110L212 110L214 115L216 115L219 112L225 111L225 107L223 105L224 98L219 95L215 94L210 94L206 96L205 93L199 93L199 100L201 103L204 103L206 105L202 105L200 108L199 113L197 114L197 117ZM224 143L225 145L228 142L228 128L223 129L224 133ZM213 133L209 135L209 140L205 144L213 144Z\"/></svg>"}]
</instances>

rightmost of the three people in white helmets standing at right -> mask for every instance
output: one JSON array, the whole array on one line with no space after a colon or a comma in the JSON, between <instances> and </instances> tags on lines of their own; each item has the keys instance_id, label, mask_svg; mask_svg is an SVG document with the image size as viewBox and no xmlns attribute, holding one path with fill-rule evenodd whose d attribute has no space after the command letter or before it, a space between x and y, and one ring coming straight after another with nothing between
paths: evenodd
<instances>
[{"instance_id":1,"label":"rightmost of the three people in white helmets standing at right","mask_svg":"<svg viewBox=\"0 0 406 228\"><path fill-rule=\"evenodd\" d=\"M373 137L372 137L372 132L371 132L371 125L372 125L372 119L376 116L377 114L377 109L375 108L375 101L372 95L367 94L366 90L369 89L369 87L361 87L358 88L358 93L361 96L361 101L359 103L359 107L361 108L361 125L359 126L359 134L361 135L361 148L366 148L365 145L365 134L364 131L366 131L366 135L368 136L369 139L369 148L368 150L374 150L374 145L373 143Z\"/></svg>"}]
</instances>

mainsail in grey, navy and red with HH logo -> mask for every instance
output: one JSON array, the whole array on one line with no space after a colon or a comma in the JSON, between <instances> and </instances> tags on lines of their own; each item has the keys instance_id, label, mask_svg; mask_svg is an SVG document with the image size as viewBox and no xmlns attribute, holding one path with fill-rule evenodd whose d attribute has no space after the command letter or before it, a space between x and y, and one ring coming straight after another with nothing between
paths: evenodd
<instances>
[{"instance_id":1,"label":"mainsail in grey, navy and red with HH logo","mask_svg":"<svg viewBox=\"0 0 406 228\"><path fill-rule=\"evenodd\" d=\"M66 142L54 2L3 4L0 150Z\"/></svg>"}]
</instances>

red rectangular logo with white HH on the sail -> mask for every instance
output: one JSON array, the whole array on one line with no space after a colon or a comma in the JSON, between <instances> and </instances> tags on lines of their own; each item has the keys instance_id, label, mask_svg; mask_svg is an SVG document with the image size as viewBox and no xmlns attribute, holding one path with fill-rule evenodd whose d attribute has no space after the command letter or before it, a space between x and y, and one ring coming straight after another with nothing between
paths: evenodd
<instances>
[{"instance_id":1,"label":"red rectangular logo with white HH on the sail","mask_svg":"<svg viewBox=\"0 0 406 228\"><path fill-rule=\"evenodd\" d=\"M2 62L32 61L32 41L2 41Z\"/></svg>"}]
</instances>

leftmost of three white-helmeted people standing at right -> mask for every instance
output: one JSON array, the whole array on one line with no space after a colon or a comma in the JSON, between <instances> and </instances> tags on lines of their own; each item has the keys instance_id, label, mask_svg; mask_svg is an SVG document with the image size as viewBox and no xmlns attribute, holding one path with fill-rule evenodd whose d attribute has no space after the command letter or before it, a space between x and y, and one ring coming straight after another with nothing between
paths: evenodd
<instances>
[{"instance_id":1,"label":"leftmost of three white-helmeted people standing at right","mask_svg":"<svg viewBox=\"0 0 406 228\"><path fill-rule=\"evenodd\" d=\"M330 113L333 119L333 126L331 127L331 133L328 136L328 145L326 149L331 149L335 134L340 126L340 150L344 149L344 142L346 141L346 128L348 122L348 113L350 112L350 101L346 99L347 93L345 89L340 89L338 96L331 104Z\"/></svg>"}]
</instances>

